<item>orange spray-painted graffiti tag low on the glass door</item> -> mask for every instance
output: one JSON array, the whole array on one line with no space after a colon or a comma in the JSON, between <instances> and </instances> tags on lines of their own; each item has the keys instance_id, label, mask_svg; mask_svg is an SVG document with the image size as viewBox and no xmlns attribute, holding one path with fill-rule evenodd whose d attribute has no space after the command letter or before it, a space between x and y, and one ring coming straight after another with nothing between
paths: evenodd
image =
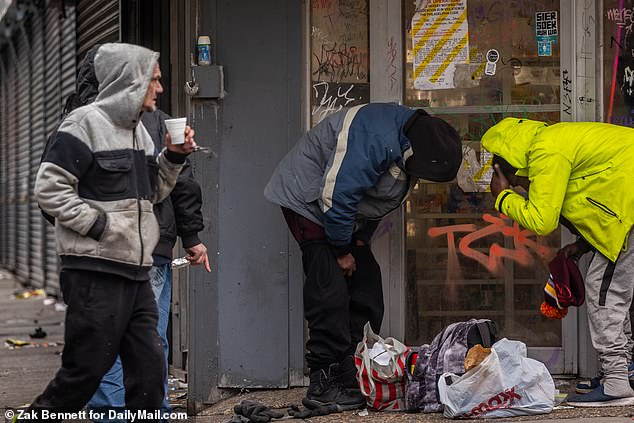
<instances>
[{"instance_id":1,"label":"orange spray-painted graffiti tag low on the glass door","mask_svg":"<svg viewBox=\"0 0 634 423\"><path fill-rule=\"evenodd\" d=\"M555 250L536 240L537 235L535 233L528 229L521 229L516 222L513 222L503 214L500 214L499 217L484 214L482 215L482 220L489 223L489 225L481 229L478 229L475 224L439 226L428 229L427 235L432 238L442 235L447 236L447 279L462 279L455 242L455 234L459 232L469 233L458 243L460 254L477 261L493 275L502 275L504 259L513 260L522 266L531 266L534 264L533 254L545 262L555 256ZM496 233L501 233L505 237L512 237L514 248L504 248L494 242L489 247L489 254L487 255L471 247L471 244L475 241Z\"/></svg>"}]
</instances>

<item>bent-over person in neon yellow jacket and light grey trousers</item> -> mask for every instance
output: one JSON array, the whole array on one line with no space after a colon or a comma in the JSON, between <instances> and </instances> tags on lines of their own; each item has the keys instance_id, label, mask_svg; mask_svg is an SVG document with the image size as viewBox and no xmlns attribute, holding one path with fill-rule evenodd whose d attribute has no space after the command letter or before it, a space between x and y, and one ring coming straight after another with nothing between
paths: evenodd
<instances>
[{"instance_id":1,"label":"bent-over person in neon yellow jacket and light grey trousers","mask_svg":"<svg viewBox=\"0 0 634 423\"><path fill-rule=\"evenodd\" d=\"M634 405L628 383L634 344L629 321L634 291L634 129L588 122L548 126L506 118L484 134L482 146L510 165L506 171L494 165L491 193L496 209L539 235L555 230L563 217L595 249L585 278L586 302L603 384L569 402ZM516 185L527 189L527 198L511 189Z\"/></svg>"}]
</instances>

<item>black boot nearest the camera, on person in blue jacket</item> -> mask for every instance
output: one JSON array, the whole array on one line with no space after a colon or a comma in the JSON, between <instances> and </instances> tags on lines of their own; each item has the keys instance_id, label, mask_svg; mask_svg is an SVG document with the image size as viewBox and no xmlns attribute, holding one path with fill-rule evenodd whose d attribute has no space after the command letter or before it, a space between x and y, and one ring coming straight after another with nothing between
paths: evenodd
<instances>
[{"instance_id":1,"label":"black boot nearest the camera, on person in blue jacket","mask_svg":"<svg viewBox=\"0 0 634 423\"><path fill-rule=\"evenodd\" d=\"M305 407L336 405L338 411L355 410L365 406L365 398L361 393L354 394L346 390L337 380L339 363L331 364L328 369L321 369L310 374L310 386L306 398L302 400Z\"/></svg>"}]
</instances>

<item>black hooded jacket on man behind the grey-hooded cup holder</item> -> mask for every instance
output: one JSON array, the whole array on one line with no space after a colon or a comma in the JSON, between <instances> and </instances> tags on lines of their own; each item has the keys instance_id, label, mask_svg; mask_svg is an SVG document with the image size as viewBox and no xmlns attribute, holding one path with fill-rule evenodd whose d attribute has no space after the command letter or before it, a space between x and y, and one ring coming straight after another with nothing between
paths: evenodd
<instances>
[{"instance_id":1,"label":"black hooded jacket on man behind the grey-hooded cup holder","mask_svg":"<svg viewBox=\"0 0 634 423\"><path fill-rule=\"evenodd\" d=\"M86 53L77 74L77 93L67 99L64 115L77 107L92 103L97 97L99 82L95 75L94 59L98 47L94 46ZM157 152L165 146L167 130L164 121L169 118L170 116L161 110L144 112L141 117L141 122L152 137ZM51 134L47 139L42 157L49 150L54 135L55 133ZM194 179L190 161L186 160L172 193L154 205L154 214L160 227L160 239L153 253L155 256L171 259L177 236L181 237L183 248L200 244L198 232L204 229L201 207L200 185ZM52 216L44 212L42 214L49 222L55 223Z\"/></svg>"}]
</instances>

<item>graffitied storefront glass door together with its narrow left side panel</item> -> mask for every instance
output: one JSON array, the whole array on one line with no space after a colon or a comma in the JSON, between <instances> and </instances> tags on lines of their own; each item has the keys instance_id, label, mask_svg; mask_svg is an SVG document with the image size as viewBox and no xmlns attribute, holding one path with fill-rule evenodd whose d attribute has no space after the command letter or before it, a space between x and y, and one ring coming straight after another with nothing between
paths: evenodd
<instances>
[{"instance_id":1,"label":"graffitied storefront glass door together with its narrow left side panel","mask_svg":"<svg viewBox=\"0 0 634 423\"><path fill-rule=\"evenodd\" d=\"M554 373L571 371L564 355L574 353L566 343L575 339L575 311L563 323L539 311L547 263L566 235L538 237L494 209L490 156L480 148L505 117L552 124L564 111L570 116L561 87L573 71L560 52L562 21L572 31L571 7L559 0L312 0L309 9L309 125L357 104L397 101L446 119L464 140L457 181L419 183L404 213L377 230L383 334L421 345L452 322L490 318Z\"/></svg>"}]
</instances>

